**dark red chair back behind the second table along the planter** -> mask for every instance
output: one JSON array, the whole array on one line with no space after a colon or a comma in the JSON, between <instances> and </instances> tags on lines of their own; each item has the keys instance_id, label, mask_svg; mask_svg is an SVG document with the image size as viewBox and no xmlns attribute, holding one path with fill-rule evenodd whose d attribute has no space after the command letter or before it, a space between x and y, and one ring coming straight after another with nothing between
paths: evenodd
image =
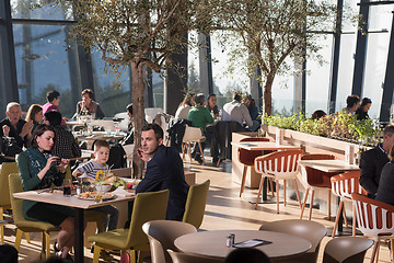
<instances>
[{"instance_id":1,"label":"dark red chair back behind the second table along the planter","mask_svg":"<svg viewBox=\"0 0 394 263\"><path fill-rule=\"evenodd\" d=\"M301 156L300 160L335 160L333 155L308 153ZM300 165L302 180L311 186L331 188L331 178L337 173L323 172L310 167Z\"/></svg>"}]
</instances>

